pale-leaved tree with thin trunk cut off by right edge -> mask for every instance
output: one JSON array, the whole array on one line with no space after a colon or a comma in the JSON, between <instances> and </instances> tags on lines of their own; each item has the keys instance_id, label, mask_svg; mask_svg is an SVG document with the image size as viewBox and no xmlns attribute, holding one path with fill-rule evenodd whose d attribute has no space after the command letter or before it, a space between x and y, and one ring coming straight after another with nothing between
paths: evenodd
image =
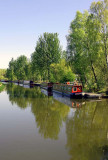
<instances>
[{"instance_id":1,"label":"pale-leaved tree with thin trunk cut off by right edge","mask_svg":"<svg viewBox=\"0 0 108 160\"><path fill-rule=\"evenodd\" d=\"M108 83L108 0L93 2L90 12L101 24L101 73L104 73L102 77L106 85Z\"/></svg>"}]
</instances>

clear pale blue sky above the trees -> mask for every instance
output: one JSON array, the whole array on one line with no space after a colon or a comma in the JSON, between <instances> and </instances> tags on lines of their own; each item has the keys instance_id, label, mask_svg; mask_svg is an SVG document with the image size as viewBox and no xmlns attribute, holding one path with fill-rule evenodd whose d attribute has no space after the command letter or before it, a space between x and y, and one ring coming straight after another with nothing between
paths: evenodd
<instances>
[{"instance_id":1,"label":"clear pale blue sky above the trees","mask_svg":"<svg viewBox=\"0 0 108 160\"><path fill-rule=\"evenodd\" d=\"M96 1L96 0L95 0ZM58 33L66 49L76 12L88 10L93 0L0 0L0 68L20 55L30 58L44 32Z\"/></svg>"}]
</instances>

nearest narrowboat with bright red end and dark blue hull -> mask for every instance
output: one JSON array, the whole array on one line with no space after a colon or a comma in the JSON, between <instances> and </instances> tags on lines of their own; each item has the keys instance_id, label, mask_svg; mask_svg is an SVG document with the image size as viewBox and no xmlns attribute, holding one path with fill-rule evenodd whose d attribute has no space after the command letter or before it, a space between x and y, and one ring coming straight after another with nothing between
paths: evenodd
<instances>
[{"instance_id":1,"label":"nearest narrowboat with bright red end and dark blue hull","mask_svg":"<svg viewBox=\"0 0 108 160\"><path fill-rule=\"evenodd\" d=\"M53 84L53 91L70 98L82 98L81 83L67 82L65 84Z\"/></svg>"}]
</instances>

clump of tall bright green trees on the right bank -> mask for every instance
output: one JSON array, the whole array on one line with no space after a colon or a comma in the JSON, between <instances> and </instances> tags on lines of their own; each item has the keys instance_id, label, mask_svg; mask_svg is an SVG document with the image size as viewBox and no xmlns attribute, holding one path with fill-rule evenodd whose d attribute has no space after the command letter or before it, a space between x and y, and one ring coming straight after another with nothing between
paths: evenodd
<instances>
[{"instance_id":1,"label":"clump of tall bright green trees on the right bank","mask_svg":"<svg viewBox=\"0 0 108 160\"><path fill-rule=\"evenodd\" d=\"M83 85L99 90L108 82L108 1L77 12L67 36L67 61ZM92 86L92 87L90 87Z\"/></svg>"}]
</instances>

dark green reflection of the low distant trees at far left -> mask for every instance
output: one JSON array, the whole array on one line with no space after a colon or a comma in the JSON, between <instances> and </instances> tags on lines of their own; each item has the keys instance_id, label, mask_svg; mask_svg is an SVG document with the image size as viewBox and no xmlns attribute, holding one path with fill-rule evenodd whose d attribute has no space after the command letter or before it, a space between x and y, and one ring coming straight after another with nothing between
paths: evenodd
<instances>
[{"instance_id":1,"label":"dark green reflection of the low distant trees at far left","mask_svg":"<svg viewBox=\"0 0 108 160\"><path fill-rule=\"evenodd\" d=\"M9 100L12 105L17 104L20 108L27 108L31 104L32 98L43 98L44 94L41 93L39 88L24 88L13 83L8 84L7 94L9 95Z\"/></svg>"}]
</instances>

